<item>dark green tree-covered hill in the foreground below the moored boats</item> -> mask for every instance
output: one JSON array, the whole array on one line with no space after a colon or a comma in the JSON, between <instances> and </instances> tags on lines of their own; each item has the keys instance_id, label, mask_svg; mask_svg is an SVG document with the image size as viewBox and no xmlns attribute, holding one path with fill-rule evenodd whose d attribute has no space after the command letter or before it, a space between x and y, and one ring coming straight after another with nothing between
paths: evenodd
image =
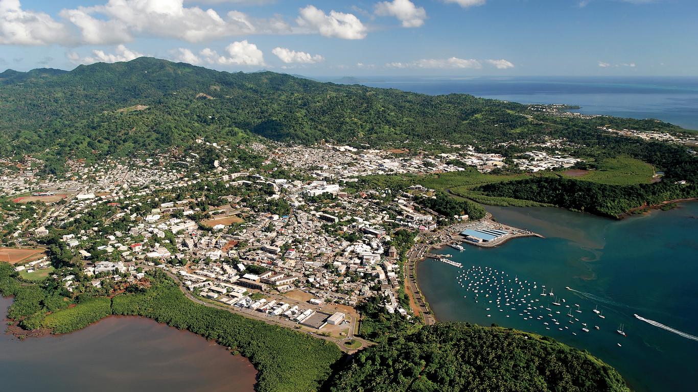
<instances>
[{"instance_id":1,"label":"dark green tree-covered hill in the foreground below the moored boats","mask_svg":"<svg viewBox=\"0 0 698 392\"><path fill-rule=\"evenodd\" d=\"M551 338L463 323L424 326L364 349L332 392L621 392L611 366Z\"/></svg>"}]
</instances>

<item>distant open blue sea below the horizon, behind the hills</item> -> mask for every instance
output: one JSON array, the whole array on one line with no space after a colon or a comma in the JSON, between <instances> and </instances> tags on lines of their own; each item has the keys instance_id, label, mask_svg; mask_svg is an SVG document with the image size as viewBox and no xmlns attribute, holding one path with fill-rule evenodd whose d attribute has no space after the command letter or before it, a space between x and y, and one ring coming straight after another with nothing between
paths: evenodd
<instances>
[{"instance_id":1,"label":"distant open blue sea below the horizon, behind the hills","mask_svg":"<svg viewBox=\"0 0 698 392\"><path fill-rule=\"evenodd\" d=\"M431 95L579 105L573 112L660 119L698 130L698 77L366 77L359 82Z\"/></svg>"}]
</instances>

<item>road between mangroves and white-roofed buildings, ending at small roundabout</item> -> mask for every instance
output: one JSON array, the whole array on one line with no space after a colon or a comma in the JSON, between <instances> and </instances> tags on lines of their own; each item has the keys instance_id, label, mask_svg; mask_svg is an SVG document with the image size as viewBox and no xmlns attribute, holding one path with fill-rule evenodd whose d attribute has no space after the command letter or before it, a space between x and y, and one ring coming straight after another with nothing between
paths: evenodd
<instances>
[{"instance_id":1,"label":"road between mangroves and white-roofed buildings, ending at small roundabout","mask_svg":"<svg viewBox=\"0 0 698 392\"><path fill-rule=\"evenodd\" d=\"M233 307L230 307L230 306L223 306L223 305L218 305L218 304L216 304L216 303L210 303L210 302L207 302L207 301L202 301L201 299L198 299L197 297L193 296L193 295L186 289L186 287L184 287L184 283L182 283L181 280L179 280L179 278L177 278L177 276L175 276L173 273L170 273L170 271L165 271L165 270L163 270L163 271L164 271L170 278L174 279L175 282L177 282L177 285L179 285L179 289L181 290L181 292L184 293L184 295L185 295L188 299L190 299L191 301L194 301L195 303L199 303L200 305L208 306L209 308L216 308L216 309L221 309L221 310L228 310L228 312L234 313L234 314L236 314L236 315L241 315L241 316L243 316L243 317L248 317L248 318L251 318L251 319L256 319L256 320L259 320L259 321L261 321L261 322L265 322L265 323L267 323L267 324L283 326L283 327L289 328L289 329L295 329L298 333L308 333L309 335L312 335L312 336L315 337L315 338L324 339L324 340L327 340L327 341L329 341L329 342L333 342L334 344L336 344L336 345L339 347L339 349L341 349L343 352L346 352L346 353L348 353L348 354L352 354L352 353L354 353L354 352L357 351L357 350L355 350L355 349L348 349L348 348L344 345L344 342L346 342L346 341L348 341L348 340L357 340L358 342L361 342L362 347L369 347L370 345L373 345L373 342L369 342L368 340L364 340L364 339L362 339L362 338L357 338L356 336L354 336L354 331L353 331L353 329L354 329L354 326L355 326L356 323L355 323L355 320L353 320L353 319L350 319L350 321L349 321L349 332L348 332L348 337L347 337L347 338L334 338L334 337L332 337L332 336L321 335L320 333L315 333L315 332L313 332L313 331L307 331L306 329L297 329L297 327L299 326L299 324L297 324L297 323L295 323L295 322L292 322L292 321L290 321L290 320L287 320L287 319L282 319L281 317L269 317L269 316L267 316L267 315L262 315L262 313L257 312L257 311L255 311L255 310L251 310L251 309L246 309L246 308L233 308ZM268 296L269 294L266 294L266 293L265 293L265 295ZM274 295L272 295L272 296L274 296ZM285 302L293 302L292 299L288 299L288 298L286 298L286 297L280 297L279 299L282 299L282 298L283 298L283 301L285 301Z\"/></svg>"}]
</instances>

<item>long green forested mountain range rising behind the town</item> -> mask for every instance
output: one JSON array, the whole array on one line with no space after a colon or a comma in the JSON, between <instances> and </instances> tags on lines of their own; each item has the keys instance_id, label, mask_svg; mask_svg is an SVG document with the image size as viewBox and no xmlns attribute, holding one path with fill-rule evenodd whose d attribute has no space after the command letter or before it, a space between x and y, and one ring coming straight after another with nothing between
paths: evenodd
<instances>
[{"instance_id":1,"label":"long green forested mountain range rising behind the town","mask_svg":"<svg viewBox=\"0 0 698 392\"><path fill-rule=\"evenodd\" d=\"M491 144L547 134L600 145L595 127L614 123L547 118L542 124L525 111L517 103L466 94L426 96L141 57L70 72L1 73L0 156L45 149L59 157L127 155L198 136L237 140L244 134L374 145L406 139ZM680 129L629 121L637 129Z\"/></svg>"}]
</instances>

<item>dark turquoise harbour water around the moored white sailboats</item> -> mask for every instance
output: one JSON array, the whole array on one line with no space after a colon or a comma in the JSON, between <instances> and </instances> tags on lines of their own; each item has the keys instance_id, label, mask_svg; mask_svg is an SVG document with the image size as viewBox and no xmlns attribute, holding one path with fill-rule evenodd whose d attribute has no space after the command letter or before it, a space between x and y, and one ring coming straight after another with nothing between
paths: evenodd
<instances>
[{"instance_id":1,"label":"dark turquoise harbour water around the moored white sailboats","mask_svg":"<svg viewBox=\"0 0 698 392\"><path fill-rule=\"evenodd\" d=\"M614 365L635 391L696 391L698 341L633 315L637 313L698 336L698 202L622 221L552 208L489 207L488 210L500 222L531 229L547 238L514 239L491 249L466 246L463 252L452 248L438 251L454 255L454 261L463 263L463 269L433 260L420 263L419 285L439 320L488 326L496 323L587 349ZM527 313L520 316L525 309L520 306L510 310L510 306L501 303L497 308L496 296L480 295L475 303L472 287L470 290L461 287L461 283L468 281L467 274L461 274L473 266L501 271L508 274L506 280L518 278L526 285L519 296L528 293L528 288L536 282L537 289L532 289L532 295L526 297L539 300L530 304L532 310L528 312L532 317ZM523 284L523 280L528 282ZM566 302L559 307L551 306L550 297L540 296L542 285L553 289ZM467 283L465 286L468 287ZM577 291L567 290L566 286ZM574 304L579 304L581 313L574 312L577 309ZM548 317L549 311L538 308L541 305L551 308L554 317ZM579 318L575 324L568 324L566 314L570 309L565 305L570 305L574 317ZM595 315L592 311L595 306L605 319ZM537 319L537 315L544 318ZM551 322L551 318L556 318L560 325ZM582 322L588 324L590 332L581 331ZM621 323L625 324L627 338L616 333ZM563 326L568 329L558 331ZM599 326L600 330L593 326Z\"/></svg>"}]
</instances>

